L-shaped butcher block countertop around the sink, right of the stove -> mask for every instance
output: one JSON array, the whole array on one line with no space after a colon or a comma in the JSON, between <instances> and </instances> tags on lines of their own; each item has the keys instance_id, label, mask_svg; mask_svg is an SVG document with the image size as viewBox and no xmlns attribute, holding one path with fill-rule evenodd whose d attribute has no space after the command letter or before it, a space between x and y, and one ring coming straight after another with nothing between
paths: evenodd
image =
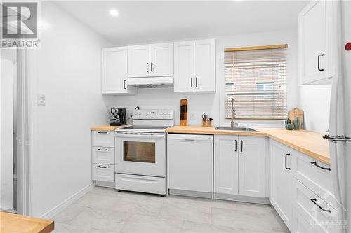
<instances>
[{"instance_id":1,"label":"L-shaped butcher block countertop around the sink, right of the stove","mask_svg":"<svg viewBox=\"0 0 351 233\"><path fill-rule=\"evenodd\" d=\"M253 128L256 132L216 130L215 127L202 126L173 126L166 129L168 133L178 134L225 134L246 136L267 136L286 146L314 157L320 162L330 164L329 142L323 139L323 134L307 130L286 130L282 128Z\"/></svg>"}]
</instances>

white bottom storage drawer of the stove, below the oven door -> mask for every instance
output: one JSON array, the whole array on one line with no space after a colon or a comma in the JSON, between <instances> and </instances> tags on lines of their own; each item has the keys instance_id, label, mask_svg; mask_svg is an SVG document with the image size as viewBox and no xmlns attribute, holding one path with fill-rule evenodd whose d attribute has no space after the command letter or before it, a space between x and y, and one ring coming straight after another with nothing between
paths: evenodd
<instances>
[{"instance_id":1,"label":"white bottom storage drawer of the stove, below the oven door","mask_svg":"<svg viewBox=\"0 0 351 233\"><path fill-rule=\"evenodd\" d=\"M117 190L166 194L166 178L164 177L116 174L115 185Z\"/></svg>"}]
</instances>

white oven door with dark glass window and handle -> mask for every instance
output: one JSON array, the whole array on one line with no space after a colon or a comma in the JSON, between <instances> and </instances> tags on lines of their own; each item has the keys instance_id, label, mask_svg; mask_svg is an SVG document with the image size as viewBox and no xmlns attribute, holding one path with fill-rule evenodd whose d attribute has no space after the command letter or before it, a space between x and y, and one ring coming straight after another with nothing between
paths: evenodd
<instances>
[{"instance_id":1,"label":"white oven door with dark glass window and handle","mask_svg":"<svg viewBox=\"0 0 351 233\"><path fill-rule=\"evenodd\" d=\"M116 132L115 138L116 173L166 176L164 133Z\"/></svg>"}]
</instances>

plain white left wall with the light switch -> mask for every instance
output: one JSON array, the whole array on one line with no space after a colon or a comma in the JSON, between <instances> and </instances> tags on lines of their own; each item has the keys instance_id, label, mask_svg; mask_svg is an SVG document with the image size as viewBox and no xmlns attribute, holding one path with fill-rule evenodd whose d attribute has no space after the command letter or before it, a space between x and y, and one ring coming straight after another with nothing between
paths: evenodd
<instances>
[{"instance_id":1,"label":"plain white left wall with the light switch","mask_svg":"<svg viewBox=\"0 0 351 233\"><path fill-rule=\"evenodd\" d=\"M91 132L107 122L101 48L110 43L43 1L41 48L31 51L30 213L43 216L91 184ZM37 58L36 58L37 57ZM37 106L45 94L46 106Z\"/></svg>"}]
</instances>

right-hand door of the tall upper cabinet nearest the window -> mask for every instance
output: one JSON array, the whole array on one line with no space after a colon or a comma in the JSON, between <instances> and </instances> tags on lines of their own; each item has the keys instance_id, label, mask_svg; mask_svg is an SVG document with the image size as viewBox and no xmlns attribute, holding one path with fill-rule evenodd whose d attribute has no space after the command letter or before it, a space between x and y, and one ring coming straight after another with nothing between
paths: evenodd
<instances>
[{"instance_id":1,"label":"right-hand door of the tall upper cabinet nearest the window","mask_svg":"<svg viewBox=\"0 0 351 233\"><path fill-rule=\"evenodd\" d=\"M216 40L194 41L195 92L216 91Z\"/></svg>"}]
</instances>

